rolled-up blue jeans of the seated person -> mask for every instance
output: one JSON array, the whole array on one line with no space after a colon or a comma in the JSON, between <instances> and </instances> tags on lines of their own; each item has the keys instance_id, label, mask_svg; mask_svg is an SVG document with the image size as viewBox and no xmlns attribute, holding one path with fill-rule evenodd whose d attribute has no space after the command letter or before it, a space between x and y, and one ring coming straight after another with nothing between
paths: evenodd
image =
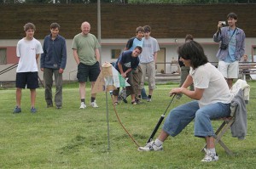
<instances>
[{"instance_id":1,"label":"rolled-up blue jeans of the seated person","mask_svg":"<svg viewBox=\"0 0 256 169\"><path fill-rule=\"evenodd\" d=\"M199 108L198 101L179 105L171 110L164 123L163 130L172 137L183 131L190 121L195 119L195 136L205 138L214 136L212 119L227 117L230 115L230 104L215 103Z\"/></svg>"}]
</instances>

